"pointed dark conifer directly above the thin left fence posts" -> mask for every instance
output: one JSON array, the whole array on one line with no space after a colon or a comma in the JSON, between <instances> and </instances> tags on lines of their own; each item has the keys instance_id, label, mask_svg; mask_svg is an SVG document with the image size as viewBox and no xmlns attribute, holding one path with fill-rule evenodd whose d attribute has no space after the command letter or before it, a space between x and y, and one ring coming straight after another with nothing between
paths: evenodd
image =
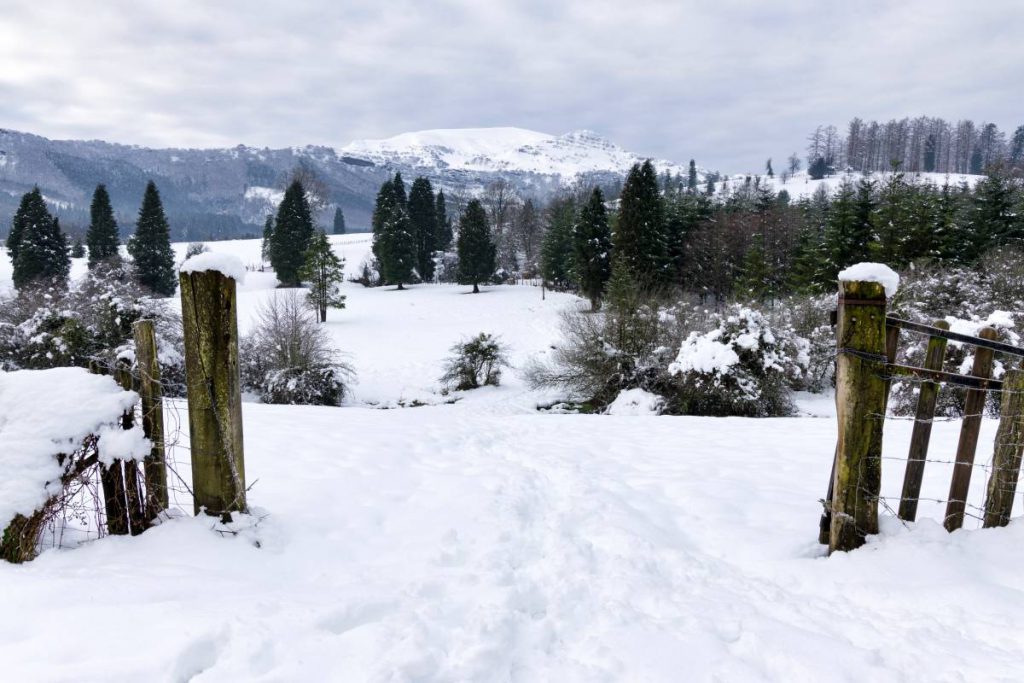
<instances>
[{"instance_id":1,"label":"pointed dark conifer directly above the thin left fence posts","mask_svg":"<svg viewBox=\"0 0 1024 683\"><path fill-rule=\"evenodd\" d=\"M163 296L174 294L178 281L174 272L171 228L153 180L145 185L135 234L128 241L128 253L135 261L135 276L142 286Z\"/></svg>"}]
</instances>

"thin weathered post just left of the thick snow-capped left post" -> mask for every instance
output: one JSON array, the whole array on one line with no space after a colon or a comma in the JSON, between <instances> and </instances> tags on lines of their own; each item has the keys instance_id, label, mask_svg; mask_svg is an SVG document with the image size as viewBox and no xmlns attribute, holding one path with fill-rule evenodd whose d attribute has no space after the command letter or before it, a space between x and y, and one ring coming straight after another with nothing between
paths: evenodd
<instances>
[{"instance_id":1,"label":"thin weathered post just left of the thick snow-capped left post","mask_svg":"<svg viewBox=\"0 0 1024 683\"><path fill-rule=\"evenodd\" d=\"M142 399L142 431L153 443L143 463L145 478L145 521L153 522L167 509L167 461L164 453L164 394L160 385L160 361L157 358L157 334L153 321L138 321L132 326L135 336L135 362L138 366L138 393Z\"/></svg>"}]
</instances>

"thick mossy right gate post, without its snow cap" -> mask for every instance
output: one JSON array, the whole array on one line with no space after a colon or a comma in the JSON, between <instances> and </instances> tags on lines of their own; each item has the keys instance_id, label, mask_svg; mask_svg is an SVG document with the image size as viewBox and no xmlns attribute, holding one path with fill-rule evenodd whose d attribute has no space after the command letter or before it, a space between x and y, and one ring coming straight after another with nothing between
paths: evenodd
<instances>
[{"instance_id":1,"label":"thick mossy right gate post, without its snow cap","mask_svg":"<svg viewBox=\"0 0 1024 683\"><path fill-rule=\"evenodd\" d=\"M836 449L828 551L853 550L879 531L882 428L888 383L886 292L879 283L841 282L837 315Z\"/></svg>"}]
</instances>

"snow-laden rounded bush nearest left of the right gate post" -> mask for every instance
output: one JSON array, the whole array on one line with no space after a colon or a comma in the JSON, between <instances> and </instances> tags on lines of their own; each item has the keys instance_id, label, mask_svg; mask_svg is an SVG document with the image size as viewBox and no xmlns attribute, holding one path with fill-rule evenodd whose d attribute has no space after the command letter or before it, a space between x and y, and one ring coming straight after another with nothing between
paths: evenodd
<instances>
[{"instance_id":1,"label":"snow-laden rounded bush nearest left of the right gate post","mask_svg":"<svg viewBox=\"0 0 1024 683\"><path fill-rule=\"evenodd\" d=\"M669 397L673 412L792 415L791 385L807 372L807 341L790 329L773 330L751 308L736 307L716 318L711 331L691 333L669 366L677 381Z\"/></svg>"}]
</instances>

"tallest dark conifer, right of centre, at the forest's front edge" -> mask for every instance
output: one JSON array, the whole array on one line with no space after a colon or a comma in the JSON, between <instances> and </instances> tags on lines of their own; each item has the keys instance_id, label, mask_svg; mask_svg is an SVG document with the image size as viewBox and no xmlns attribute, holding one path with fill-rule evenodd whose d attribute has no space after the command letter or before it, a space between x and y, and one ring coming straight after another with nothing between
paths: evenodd
<instances>
[{"instance_id":1,"label":"tallest dark conifer, right of centre, at the forest's front edge","mask_svg":"<svg viewBox=\"0 0 1024 683\"><path fill-rule=\"evenodd\" d=\"M664 284L671 276L665 236L665 207L650 161L634 165L620 198L614 234L617 258L644 283Z\"/></svg>"}]
</instances>

